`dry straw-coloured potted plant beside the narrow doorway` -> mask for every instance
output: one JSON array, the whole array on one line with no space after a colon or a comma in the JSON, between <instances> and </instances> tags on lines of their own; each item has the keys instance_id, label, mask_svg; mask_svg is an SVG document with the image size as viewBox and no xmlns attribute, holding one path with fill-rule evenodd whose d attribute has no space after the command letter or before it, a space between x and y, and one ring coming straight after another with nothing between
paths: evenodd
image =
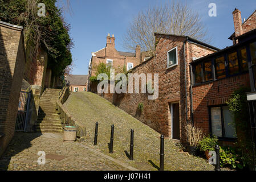
<instances>
[{"instance_id":1,"label":"dry straw-coloured potted plant beside the narrow doorway","mask_svg":"<svg viewBox=\"0 0 256 182\"><path fill-rule=\"evenodd\" d=\"M204 134L200 129L193 126L192 123L188 123L188 125L185 126L185 134L189 143L189 154L196 155L196 148L198 147L201 139L204 137Z\"/></svg>"}]
</instances>

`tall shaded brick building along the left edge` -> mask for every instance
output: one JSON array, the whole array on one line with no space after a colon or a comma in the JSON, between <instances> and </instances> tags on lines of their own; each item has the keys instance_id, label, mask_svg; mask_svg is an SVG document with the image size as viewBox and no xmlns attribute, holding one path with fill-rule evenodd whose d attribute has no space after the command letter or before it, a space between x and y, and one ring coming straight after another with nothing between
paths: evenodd
<instances>
[{"instance_id":1,"label":"tall shaded brick building along the left edge","mask_svg":"<svg viewBox=\"0 0 256 182\"><path fill-rule=\"evenodd\" d=\"M14 136L25 62L23 28L0 21L0 155Z\"/></svg>"}]
</instances>

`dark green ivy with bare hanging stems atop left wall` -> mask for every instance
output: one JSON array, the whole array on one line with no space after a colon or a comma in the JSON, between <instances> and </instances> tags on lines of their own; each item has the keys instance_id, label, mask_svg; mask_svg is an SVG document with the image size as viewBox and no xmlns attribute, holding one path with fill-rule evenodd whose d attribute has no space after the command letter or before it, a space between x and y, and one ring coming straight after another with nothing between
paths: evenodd
<instances>
[{"instance_id":1,"label":"dark green ivy with bare hanging stems atop left wall","mask_svg":"<svg viewBox=\"0 0 256 182\"><path fill-rule=\"evenodd\" d=\"M37 15L38 3L36 0L0 0L0 19L23 26L26 49L32 52L31 59L36 59L39 49L45 49L48 67L55 76L59 76L72 63L70 24L55 6L56 0L40 0L46 5L46 16L42 17Z\"/></svg>"}]
</instances>

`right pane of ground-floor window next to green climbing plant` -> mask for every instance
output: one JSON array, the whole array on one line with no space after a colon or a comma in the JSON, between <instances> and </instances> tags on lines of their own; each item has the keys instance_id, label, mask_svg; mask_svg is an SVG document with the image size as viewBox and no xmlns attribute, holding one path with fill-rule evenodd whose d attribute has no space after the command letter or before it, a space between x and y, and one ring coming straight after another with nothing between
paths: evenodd
<instances>
[{"instance_id":1,"label":"right pane of ground-floor window next to green climbing plant","mask_svg":"<svg viewBox=\"0 0 256 182\"><path fill-rule=\"evenodd\" d=\"M233 114L229 111L229 106L224 106L222 107L222 109L225 127L225 137L236 138L237 134L235 133L235 127L233 124Z\"/></svg>"}]
</instances>

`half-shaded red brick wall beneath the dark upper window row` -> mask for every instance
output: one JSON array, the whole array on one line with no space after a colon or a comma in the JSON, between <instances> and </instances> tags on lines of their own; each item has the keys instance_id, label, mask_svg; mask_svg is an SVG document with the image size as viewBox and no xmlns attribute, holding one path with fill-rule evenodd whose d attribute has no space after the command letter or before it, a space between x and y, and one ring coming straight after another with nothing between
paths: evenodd
<instances>
[{"instance_id":1,"label":"half-shaded red brick wall beneath the dark upper window row","mask_svg":"<svg viewBox=\"0 0 256 182\"><path fill-rule=\"evenodd\" d=\"M249 74L243 74L222 80L193 86L194 125L204 133L209 133L208 106L225 104L234 90L241 86L249 86Z\"/></svg>"}]
</instances>

